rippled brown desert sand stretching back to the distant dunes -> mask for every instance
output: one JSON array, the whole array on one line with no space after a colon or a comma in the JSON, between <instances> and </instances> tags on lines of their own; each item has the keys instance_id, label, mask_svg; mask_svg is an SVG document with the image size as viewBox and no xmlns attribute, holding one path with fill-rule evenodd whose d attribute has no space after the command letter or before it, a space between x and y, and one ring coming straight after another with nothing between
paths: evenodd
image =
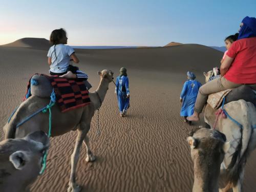
<instances>
[{"instance_id":1,"label":"rippled brown desert sand stretching back to the distant dunes","mask_svg":"<svg viewBox=\"0 0 256 192\"><path fill-rule=\"evenodd\" d=\"M42 41L0 46L0 127L22 101L30 76L48 73L48 50L47 45L41 46ZM82 185L82 191L191 191L193 164L185 138L193 127L203 125L203 118L193 126L183 122L180 92L188 70L204 83L203 71L219 66L223 53L196 44L76 53L80 70L89 74L93 85L90 91L98 86L97 71L110 69L116 77L120 67L127 68L131 91L127 117L118 115L112 83L99 111L100 135L96 134L97 114L93 118L89 137L97 159L87 163L86 148L82 147L77 168L77 183ZM3 140L2 128L0 134ZM67 190L76 135L72 131L51 138L47 169L31 191ZM247 161L244 191L255 190L255 160L254 151Z\"/></svg>"}]
</instances>

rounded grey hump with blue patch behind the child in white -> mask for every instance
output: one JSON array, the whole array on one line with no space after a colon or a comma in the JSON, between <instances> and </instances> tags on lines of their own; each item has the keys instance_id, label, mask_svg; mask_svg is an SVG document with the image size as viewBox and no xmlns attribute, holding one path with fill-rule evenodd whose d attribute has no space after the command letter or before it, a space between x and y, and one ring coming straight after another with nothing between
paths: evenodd
<instances>
[{"instance_id":1,"label":"rounded grey hump with blue patch behind the child in white","mask_svg":"<svg viewBox=\"0 0 256 192\"><path fill-rule=\"evenodd\" d=\"M35 74L31 78L31 95L38 97L50 97L52 93L52 85L47 77Z\"/></svg>"}]
</instances>

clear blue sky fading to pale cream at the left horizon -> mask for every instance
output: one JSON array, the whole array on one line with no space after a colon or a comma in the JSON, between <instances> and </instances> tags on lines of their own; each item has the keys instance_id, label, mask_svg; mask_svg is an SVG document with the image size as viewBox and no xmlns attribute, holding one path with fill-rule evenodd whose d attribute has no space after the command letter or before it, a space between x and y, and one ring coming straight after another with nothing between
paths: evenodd
<instances>
[{"instance_id":1,"label":"clear blue sky fading to pale cream at the left horizon","mask_svg":"<svg viewBox=\"0 0 256 192\"><path fill-rule=\"evenodd\" d=\"M0 0L0 45L64 28L71 46L224 46L245 16L255 0Z\"/></svg>"}]
</instances>

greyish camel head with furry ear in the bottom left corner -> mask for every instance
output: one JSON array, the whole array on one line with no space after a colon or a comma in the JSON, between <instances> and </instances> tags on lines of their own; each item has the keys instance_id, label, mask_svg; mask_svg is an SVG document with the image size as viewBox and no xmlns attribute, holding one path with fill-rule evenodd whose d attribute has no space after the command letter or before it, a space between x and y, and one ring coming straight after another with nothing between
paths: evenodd
<instances>
[{"instance_id":1,"label":"greyish camel head with furry ear in the bottom left corner","mask_svg":"<svg viewBox=\"0 0 256 192\"><path fill-rule=\"evenodd\" d=\"M36 131L22 139L0 142L0 191L29 191L41 169L44 151L49 148L49 138Z\"/></svg>"}]
</instances>

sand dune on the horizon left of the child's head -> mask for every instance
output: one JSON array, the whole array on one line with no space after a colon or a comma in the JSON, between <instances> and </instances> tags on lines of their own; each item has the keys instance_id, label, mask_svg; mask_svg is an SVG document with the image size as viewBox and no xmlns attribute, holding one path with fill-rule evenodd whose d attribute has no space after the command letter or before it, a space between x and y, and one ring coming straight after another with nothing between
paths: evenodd
<instances>
[{"instance_id":1,"label":"sand dune on the horizon left of the child's head","mask_svg":"<svg viewBox=\"0 0 256 192\"><path fill-rule=\"evenodd\" d=\"M50 42L45 38L21 38L3 46L48 50L50 48Z\"/></svg>"}]
</instances>

